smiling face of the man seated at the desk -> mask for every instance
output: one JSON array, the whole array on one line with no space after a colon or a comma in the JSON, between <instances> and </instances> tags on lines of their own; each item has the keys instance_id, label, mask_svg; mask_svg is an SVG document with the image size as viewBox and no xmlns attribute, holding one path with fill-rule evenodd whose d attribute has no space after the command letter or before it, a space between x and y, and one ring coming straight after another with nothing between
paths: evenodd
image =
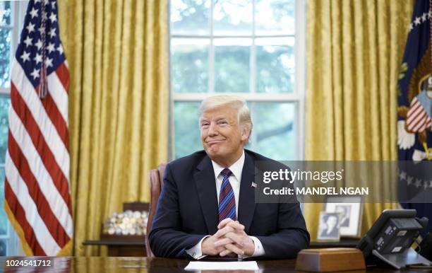
<instances>
[{"instance_id":1,"label":"smiling face of the man seated at the desk","mask_svg":"<svg viewBox=\"0 0 432 273\"><path fill-rule=\"evenodd\" d=\"M239 125L237 111L229 105L203 112L200 132L204 150L217 163L238 159L248 136Z\"/></svg>"}]
</instances>

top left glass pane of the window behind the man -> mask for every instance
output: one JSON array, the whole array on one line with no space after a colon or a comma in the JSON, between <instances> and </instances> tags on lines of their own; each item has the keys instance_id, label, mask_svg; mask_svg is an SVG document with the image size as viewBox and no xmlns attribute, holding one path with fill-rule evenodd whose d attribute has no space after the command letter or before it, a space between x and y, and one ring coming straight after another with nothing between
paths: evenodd
<instances>
[{"instance_id":1,"label":"top left glass pane of the window behind the man","mask_svg":"<svg viewBox=\"0 0 432 273\"><path fill-rule=\"evenodd\" d=\"M210 0L172 0L173 34L209 34Z\"/></svg>"}]
</instances>

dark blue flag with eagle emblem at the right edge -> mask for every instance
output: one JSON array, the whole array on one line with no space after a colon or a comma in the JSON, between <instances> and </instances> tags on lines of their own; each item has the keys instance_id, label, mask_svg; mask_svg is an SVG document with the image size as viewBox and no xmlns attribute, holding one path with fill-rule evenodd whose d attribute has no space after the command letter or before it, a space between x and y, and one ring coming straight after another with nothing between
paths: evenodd
<instances>
[{"instance_id":1,"label":"dark blue flag with eagle emblem at the right edge","mask_svg":"<svg viewBox=\"0 0 432 273\"><path fill-rule=\"evenodd\" d=\"M429 0L416 0L409 25L397 94L397 145L399 161L422 161L399 169L399 189L405 208L429 218L432 228L432 7ZM424 167L427 168L424 168ZM416 198L421 197L421 198ZM410 200L410 198L412 198ZM429 200L428 200L429 199ZM416 203L423 202L422 204Z\"/></svg>"}]
</instances>

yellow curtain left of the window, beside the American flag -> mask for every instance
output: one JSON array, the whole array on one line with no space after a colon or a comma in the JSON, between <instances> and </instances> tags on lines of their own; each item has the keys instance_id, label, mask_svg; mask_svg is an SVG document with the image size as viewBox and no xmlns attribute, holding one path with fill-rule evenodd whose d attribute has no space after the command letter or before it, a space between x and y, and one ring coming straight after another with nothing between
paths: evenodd
<instances>
[{"instance_id":1,"label":"yellow curtain left of the window, beside the American flag","mask_svg":"<svg viewBox=\"0 0 432 273\"><path fill-rule=\"evenodd\" d=\"M148 202L148 173L167 161L167 0L58 1L71 74L73 255L123 202Z\"/></svg>"}]
</instances>

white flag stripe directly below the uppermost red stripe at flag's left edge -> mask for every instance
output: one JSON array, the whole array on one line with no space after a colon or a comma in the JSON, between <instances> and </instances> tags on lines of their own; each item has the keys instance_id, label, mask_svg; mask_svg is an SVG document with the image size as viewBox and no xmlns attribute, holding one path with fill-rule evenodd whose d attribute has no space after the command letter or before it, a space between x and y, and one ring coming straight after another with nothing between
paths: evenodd
<instances>
[{"instance_id":1,"label":"white flag stripe directly below the uppermost red stripe at flag's left edge","mask_svg":"<svg viewBox=\"0 0 432 273\"><path fill-rule=\"evenodd\" d=\"M25 156L25 159L30 163L30 170L39 181L42 192L50 204L49 207L54 211L57 219L61 221L61 224L68 236L71 237L73 225L71 214L68 213L70 202L68 199L65 199L65 195L62 196L57 190L57 186L54 184L52 177L45 168L39 153L36 151L36 148L32 143L30 135L13 108L10 110L9 119L11 120L10 132L13 137L11 141L16 141L18 146L20 146L20 151L23 151L23 156ZM67 189L64 190L64 192L67 194ZM66 195L66 198L69 198L69 195Z\"/></svg>"}]
</instances>

